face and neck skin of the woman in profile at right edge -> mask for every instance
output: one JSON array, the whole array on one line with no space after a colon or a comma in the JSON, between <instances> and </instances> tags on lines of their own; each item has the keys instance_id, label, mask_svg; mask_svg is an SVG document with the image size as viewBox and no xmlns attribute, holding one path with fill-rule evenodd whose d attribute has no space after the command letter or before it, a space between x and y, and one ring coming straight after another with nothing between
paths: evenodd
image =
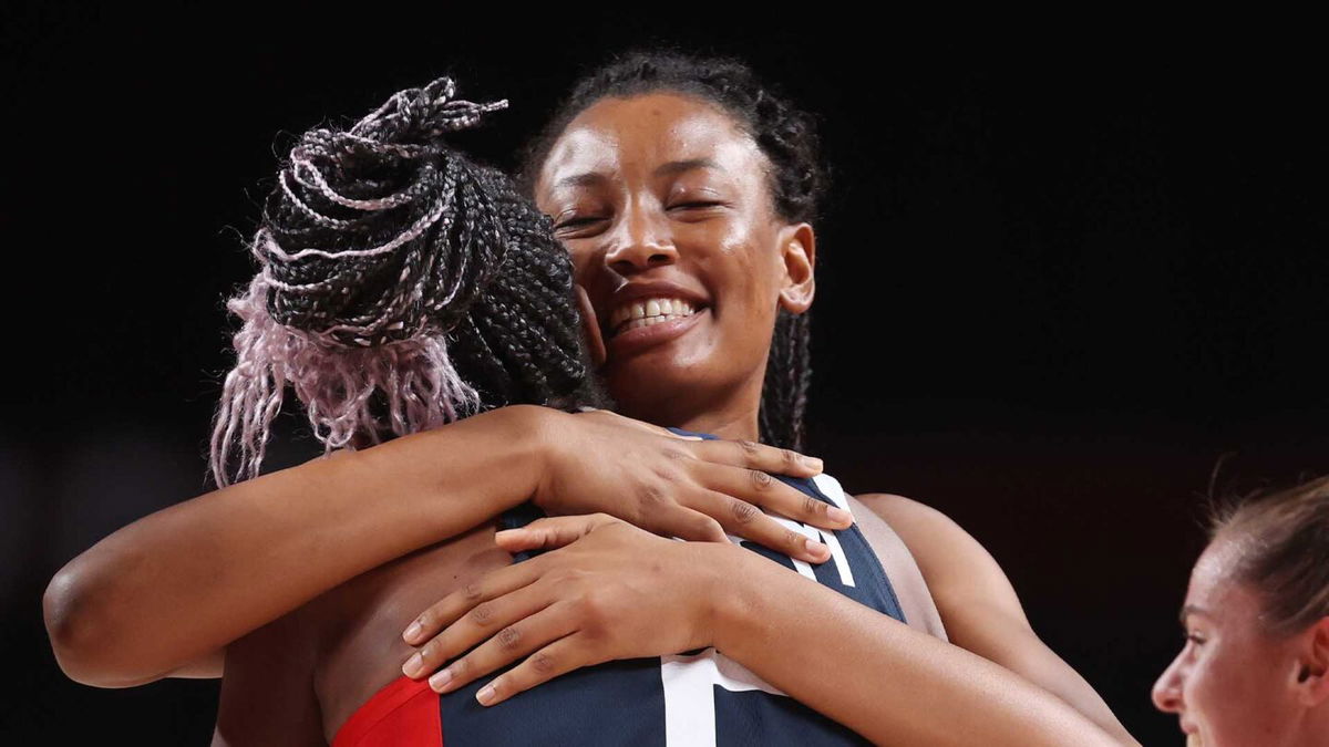
<instances>
[{"instance_id":1,"label":"face and neck skin of the woman in profile at right edge","mask_svg":"<svg viewBox=\"0 0 1329 747\"><path fill-rule=\"evenodd\" d=\"M1289 637L1260 623L1261 595L1233 581L1240 540L1219 537L1196 561L1181 607L1185 646L1154 685L1154 704L1205 747L1329 740L1329 618Z\"/></svg>"}]
</instances>

